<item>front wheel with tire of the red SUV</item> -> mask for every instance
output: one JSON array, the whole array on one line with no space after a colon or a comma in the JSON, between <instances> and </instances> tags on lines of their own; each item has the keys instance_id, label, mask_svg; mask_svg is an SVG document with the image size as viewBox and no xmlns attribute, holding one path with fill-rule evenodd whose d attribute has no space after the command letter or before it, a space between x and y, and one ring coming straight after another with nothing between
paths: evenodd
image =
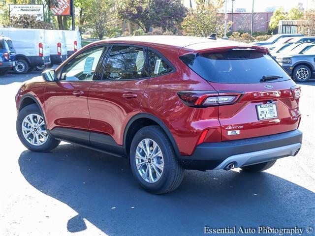
<instances>
[{"instance_id":1,"label":"front wheel with tire of the red SUV","mask_svg":"<svg viewBox=\"0 0 315 236\"><path fill-rule=\"evenodd\" d=\"M36 104L23 108L16 120L16 131L22 144L32 151L50 151L60 141L48 134L45 119Z\"/></svg>"}]
</instances>

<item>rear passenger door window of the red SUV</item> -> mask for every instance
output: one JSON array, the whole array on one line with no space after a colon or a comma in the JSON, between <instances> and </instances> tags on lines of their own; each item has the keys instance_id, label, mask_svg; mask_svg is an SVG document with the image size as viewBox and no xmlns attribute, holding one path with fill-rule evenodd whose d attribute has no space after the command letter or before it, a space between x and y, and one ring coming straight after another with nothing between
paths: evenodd
<instances>
[{"instance_id":1,"label":"rear passenger door window of the red SUV","mask_svg":"<svg viewBox=\"0 0 315 236\"><path fill-rule=\"evenodd\" d=\"M143 48L113 46L108 56L103 80L130 80L148 77Z\"/></svg>"}]
</instances>

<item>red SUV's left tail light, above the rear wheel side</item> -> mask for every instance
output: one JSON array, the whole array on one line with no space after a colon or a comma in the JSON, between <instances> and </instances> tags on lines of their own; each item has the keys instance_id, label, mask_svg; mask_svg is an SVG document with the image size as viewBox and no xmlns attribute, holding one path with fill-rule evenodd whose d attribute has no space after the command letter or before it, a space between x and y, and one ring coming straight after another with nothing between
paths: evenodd
<instances>
[{"instance_id":1,"label":"red SUV's left tail light, above the rear wheel side","mask_svg":"<svg viewBox=\"0 0 315 236\"><path fill-rule=\"evenodd\" d=\"M230 105L237 102L244 92L239 91L179 91L183 103L189 107Z\"/></svg>"}]
</instances>

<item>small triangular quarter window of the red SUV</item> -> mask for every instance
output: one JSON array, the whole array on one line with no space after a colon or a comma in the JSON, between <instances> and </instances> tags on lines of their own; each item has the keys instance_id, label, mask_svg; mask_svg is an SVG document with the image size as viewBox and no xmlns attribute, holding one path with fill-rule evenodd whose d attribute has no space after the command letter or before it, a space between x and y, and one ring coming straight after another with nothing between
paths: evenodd
<instances>
[{"instance_id":1,"label":"small triangular quarter window of the red SUV","mask_svg":"<svg viewBox=\"0 0 315 236\"><path fill-rule=\"evenodd\" d=\"M165 60L163 60L158 54L149 50L149 67L150 67L150 76L158 76L169 73L172 71Z\"/></svg>"}]
</instances>

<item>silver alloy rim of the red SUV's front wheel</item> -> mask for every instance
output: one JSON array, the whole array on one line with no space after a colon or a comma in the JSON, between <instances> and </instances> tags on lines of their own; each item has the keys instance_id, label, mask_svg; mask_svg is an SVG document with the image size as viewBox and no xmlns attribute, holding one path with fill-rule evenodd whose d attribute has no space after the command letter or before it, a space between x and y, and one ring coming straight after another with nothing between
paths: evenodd
<instances>
[{"instance_id":1,"label":"silver alloy rim of the red SUV's front wheel","mask_svg":"<svg viewBox=\"0 0 315 236\"><path fill-rule=\"evenodd\" d=\"M38 114L30 114L23 119L22 133L26 141L34 146L43 145L48 139L45 121Z\"/></svg>"}]
</instances>

